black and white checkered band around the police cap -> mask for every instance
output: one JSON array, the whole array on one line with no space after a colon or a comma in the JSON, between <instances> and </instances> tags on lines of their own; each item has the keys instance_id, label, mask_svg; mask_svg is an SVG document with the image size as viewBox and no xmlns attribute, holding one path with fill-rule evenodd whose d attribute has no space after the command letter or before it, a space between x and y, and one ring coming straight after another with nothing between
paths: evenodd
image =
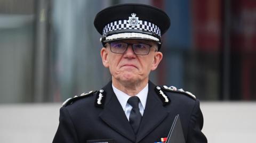
<instances>
[{"instance_id":1,"label":"black and white checkered band around the police cap","mask_svg":"<svg viewBox=\"0 0 256 143\"><path fill-rule=\"evenodd\" d=\"M122 30L122 29L138 29L138 30L144 30L148 32L154 32L159 37L161 37L161 31L158 26L156 26L154 23L143 21L143 20L139 20L139 23L137 24L137 26L131 26L128 20L118 20L118 21L108 23L103 28L103 36L105 36L109 31Z\"/></svg>"}]
</instances>

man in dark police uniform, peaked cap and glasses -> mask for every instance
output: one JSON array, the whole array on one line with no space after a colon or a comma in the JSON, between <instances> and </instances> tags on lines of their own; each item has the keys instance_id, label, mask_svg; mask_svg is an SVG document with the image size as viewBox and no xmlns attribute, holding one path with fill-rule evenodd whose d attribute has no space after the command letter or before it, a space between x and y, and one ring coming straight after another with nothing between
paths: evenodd
<instances>
[{"instance_id":1,"label":"man in dark police uniform, peaked cap and glasses","mask_svg":"<svg viewBox=\"0 0 256 143\"><path fill-rule=\"evenodd\" d=\"M198 99L149 81L163 57L167 14L148 5L121 4L99 12L94 26L103 31L100 54L112 80L63 103L53 142L157 142L167 137L177 114L186 142L207 142Z\"/></svg>"}]
</instances>

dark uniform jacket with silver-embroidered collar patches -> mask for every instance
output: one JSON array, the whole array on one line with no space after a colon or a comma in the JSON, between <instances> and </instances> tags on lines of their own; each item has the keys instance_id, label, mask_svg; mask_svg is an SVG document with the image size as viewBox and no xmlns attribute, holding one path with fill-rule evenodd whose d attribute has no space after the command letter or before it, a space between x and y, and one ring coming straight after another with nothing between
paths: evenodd
<instances>
[{"instance_id":1,"label":"dark uniform jacket with silver-embroidered collar patches","mask_svg":"<svg viewBox=\"0 0 256 143\"><path fill-rule=\"evenodd\" d=\"M97 92L75 100L60 108L59 127L53 142L108 142L154 143L167 137L175 115L179 114L186 142L207 142L203 128L203 115L199 100L182 92L166 91L169 103L163 101L149 81L148 97L140 128L135 137L121 104L113 91L111 82L104 88L102 106L95 106ZM96 101L95 101L96 100ZM91 141L98 140L98 141Z\"/></svg>"}]
</instances>

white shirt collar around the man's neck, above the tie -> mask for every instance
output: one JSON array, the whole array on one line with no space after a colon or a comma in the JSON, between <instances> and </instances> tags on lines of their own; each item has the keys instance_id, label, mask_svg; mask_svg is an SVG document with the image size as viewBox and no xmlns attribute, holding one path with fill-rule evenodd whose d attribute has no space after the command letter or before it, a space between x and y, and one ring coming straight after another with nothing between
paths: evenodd
<instances>
[{"instance_id":1,"label":"white shirt collar around the man's neck, above the tie","mask_svg":"<svg viewBox=\"0 0 256 143\"><path fill-rule=\"evenodd\" d=\"M127 94L125 94L123 91L117 89L114 87L114 85L112 84L113 90L116 94L116 97L119 101L119 103L121 104L123 110L125 111L125 106L127 103L127 100L131 97ZM143 110L145 110L146 107L146 102L147 102L147 96L148 96L148 84L146 85L145 88L143 88L137 95L140 98L140 102L142 104Z\"/></svg>"}]
</instances>

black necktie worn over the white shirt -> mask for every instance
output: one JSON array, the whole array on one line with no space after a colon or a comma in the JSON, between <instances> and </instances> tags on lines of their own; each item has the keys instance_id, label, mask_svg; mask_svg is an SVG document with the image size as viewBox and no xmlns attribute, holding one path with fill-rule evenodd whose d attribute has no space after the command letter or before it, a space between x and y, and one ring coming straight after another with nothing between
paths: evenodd
<instances>
[{"instance_id":1,"label":"black necktie worn over the white shirt","mask_svg":"<svg viewBox=\"0 0 256 143\"><path fill-rule=\"evenodd\" d=\"M139 108L140 99L137 96L130 97L127 101L132 106L132 110L129 117L129 122L132 125L133 131L137 134L140 127L141 114Z\"/></svg>"}]
</instances>

